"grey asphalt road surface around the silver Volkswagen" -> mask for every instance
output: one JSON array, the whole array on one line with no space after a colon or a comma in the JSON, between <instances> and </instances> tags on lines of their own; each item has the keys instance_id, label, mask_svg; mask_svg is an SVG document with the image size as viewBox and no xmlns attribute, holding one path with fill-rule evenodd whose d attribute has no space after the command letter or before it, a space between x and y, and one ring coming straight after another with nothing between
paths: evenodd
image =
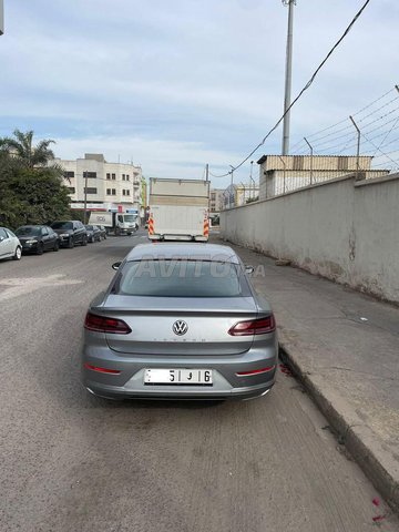
<instances>
[{"instance_id":1,"label":"grey asphalt road surface around the silver Volkswagen","mask_svg":"<svg viewBox=\"0 0 399 532\"><path fill-rule=\"evenodd\" d=\"M0 530L364 532L387 514L380 530L399 531L289 375L247 402L83 390L86 306L140 242L0 263Z\"/></svg>"}]
</instances>

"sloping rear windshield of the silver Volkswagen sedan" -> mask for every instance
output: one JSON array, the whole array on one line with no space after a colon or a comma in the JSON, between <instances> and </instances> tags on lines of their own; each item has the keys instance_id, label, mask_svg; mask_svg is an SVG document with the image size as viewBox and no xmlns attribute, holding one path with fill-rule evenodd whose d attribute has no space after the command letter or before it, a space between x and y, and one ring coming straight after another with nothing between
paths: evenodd
<instances>
[{"instance_id":1,"label":"sloping rear windshield of the silver Volkswagen sedan","mask_svg":"<svg viewBox=\"0 0 399 532\"><path fill-rule=\"evenodd\" d=\"M239 297L249 287L236 264L207 260L140 260L124 265L113 294L153 297Z\"/></svg>"}]
</instances>

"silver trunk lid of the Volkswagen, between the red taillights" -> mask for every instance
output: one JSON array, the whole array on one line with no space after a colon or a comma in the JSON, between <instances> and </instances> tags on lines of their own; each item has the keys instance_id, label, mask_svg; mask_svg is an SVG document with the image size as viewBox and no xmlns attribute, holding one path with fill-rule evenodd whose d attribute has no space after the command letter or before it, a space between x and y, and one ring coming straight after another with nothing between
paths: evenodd
<instances>
[{"instance_id":1,"label":"silver trunk lid of the Volkswagen, between the red taillights","mask_svg":"<svg viewBox=\"0 0 399 532\"><path fill-rule=\"evenodd\" d=\"M129 335L106 334L109 347L136 355L239 355L247 351L253 336L228 334L237 321L253 319L257 307L252 297L165 298L110 295L105 305L91 309L123 319ZM176 321L184 321L183 334ZM183 326L183 329L185 327Z\"/></svg>"}]
</instances>

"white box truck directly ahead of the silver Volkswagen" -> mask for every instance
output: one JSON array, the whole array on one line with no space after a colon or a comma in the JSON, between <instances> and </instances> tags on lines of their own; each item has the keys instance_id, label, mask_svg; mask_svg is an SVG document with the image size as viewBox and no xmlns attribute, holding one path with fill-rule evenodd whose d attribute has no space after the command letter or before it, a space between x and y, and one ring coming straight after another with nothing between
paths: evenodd
<instances>
[{"instance_id":1,"label":"white box truck directly ahead of the silver Volkswagen","mask_svg":"<svg viewBox=\"0 0 399 532\"><path fill-rule=\"evenodd\" d=\"M150 178L149 238L207 242L209 182Z\"/></svg>"}]
</instances>

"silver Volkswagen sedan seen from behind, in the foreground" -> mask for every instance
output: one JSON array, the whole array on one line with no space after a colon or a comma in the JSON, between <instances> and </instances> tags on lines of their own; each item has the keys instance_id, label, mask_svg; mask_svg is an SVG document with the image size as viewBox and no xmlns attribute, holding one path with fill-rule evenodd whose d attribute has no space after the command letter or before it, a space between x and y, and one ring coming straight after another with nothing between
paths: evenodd
<instances>
[{"instance_id":1,"label":"silver Volkswagen sedan seen from behind, in the foreground","mask_svg":"<svg viewBox=\"0 0 399 532\"><path fill-rule=\"evenodd\" d=\"M82 380L105 398L249 399L276 378L269 304L231 247L135 246L84 321Z\"/></svg>"}]
</instances>

